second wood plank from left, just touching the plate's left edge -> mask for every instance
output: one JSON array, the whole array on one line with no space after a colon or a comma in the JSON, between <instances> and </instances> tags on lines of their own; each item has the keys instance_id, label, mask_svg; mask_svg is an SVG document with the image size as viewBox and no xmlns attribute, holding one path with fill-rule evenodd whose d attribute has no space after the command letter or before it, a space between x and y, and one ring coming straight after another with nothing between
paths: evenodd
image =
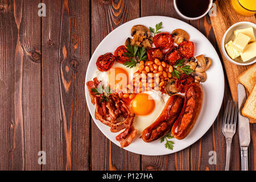
<instances>
[{"instance_id":1,"label":"second wood plank from left, just touching the plate's left edge","mask_svg":"<svg viewBox=\"0 0 256 182\"><path fill-rule=\"evenodd\" d=\"M90 54L89 0L44 1L42 19L43 170L90 168L84 80Z\"/></svg>"}]
</instances>

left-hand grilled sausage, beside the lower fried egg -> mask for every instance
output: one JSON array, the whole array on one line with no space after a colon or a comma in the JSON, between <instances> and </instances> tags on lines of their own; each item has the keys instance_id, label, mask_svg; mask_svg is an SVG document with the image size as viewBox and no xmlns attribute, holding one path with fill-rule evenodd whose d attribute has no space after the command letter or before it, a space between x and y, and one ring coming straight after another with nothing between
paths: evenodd
<instances>
[{"instance_id":1,"label":"left-hand grilled sausage, beside the lower fried egg","mask_svg":"<svg viewBox=\"0 0 256 182\"><path fill-rule=\"evenodd\" d=\"M182 106L183 97L179 94L172 95L156 121L142 131L144 142L151 142L166 135L179 117Z\"/></svg>"}]
</instances>

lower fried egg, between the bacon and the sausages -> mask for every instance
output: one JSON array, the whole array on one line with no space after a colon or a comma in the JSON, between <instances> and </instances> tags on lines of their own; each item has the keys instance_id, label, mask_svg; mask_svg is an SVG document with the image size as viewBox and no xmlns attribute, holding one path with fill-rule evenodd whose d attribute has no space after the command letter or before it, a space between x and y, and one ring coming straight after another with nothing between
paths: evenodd
<instances>
[{"instance_id":1,"label":"lower fried egg, between the bacon and the sausages","mask_svg":"<svg viewBox=\"0 0 256 182\"><path fill-rule=\"evenodd\" d=\"M134 129L141 135L159 117L170 96L160 91L150 90L138 93L131 101L131 110L135 113Z\"/></svg>"}]
</instances>

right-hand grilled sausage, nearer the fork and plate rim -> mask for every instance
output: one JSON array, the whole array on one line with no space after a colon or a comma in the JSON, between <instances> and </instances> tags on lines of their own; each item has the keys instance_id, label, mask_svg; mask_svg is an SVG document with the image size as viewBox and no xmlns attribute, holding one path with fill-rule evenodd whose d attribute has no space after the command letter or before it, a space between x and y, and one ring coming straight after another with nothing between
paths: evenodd
<instances>
[{"instance_id":1,"label":"right-hand grilled sausage, nearer the fork and plate rim","mask_svg":"<svg viewBox=\"0 0 256 182\"><path fill-rule=\"evenodd\" d=\"M187 137L199 117L203 97L203 88L199 83L192 83L187 86L183 108L179 118L172 126L172 136L177 139Z\"/></svg>"}]
</instances>

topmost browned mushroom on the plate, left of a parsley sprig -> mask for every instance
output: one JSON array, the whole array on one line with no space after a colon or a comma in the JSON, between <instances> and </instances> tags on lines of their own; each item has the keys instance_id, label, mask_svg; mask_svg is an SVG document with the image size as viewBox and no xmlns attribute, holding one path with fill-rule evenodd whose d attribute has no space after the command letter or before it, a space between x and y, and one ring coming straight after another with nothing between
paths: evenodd
<instances>
[{"instance_id":1,"label":"topmost browned mushroom on the plate, left of a parsley sprig","mask_svg":"<svg viewBox=\"0 0 256 182\"><path fill-rule=\"evenodd\" d=\"M135 41L142 42L143 39L150 37L150 30L141 24L137 24L131 28L131 36L134 37Z\"/></svg>"}]
</instances>

